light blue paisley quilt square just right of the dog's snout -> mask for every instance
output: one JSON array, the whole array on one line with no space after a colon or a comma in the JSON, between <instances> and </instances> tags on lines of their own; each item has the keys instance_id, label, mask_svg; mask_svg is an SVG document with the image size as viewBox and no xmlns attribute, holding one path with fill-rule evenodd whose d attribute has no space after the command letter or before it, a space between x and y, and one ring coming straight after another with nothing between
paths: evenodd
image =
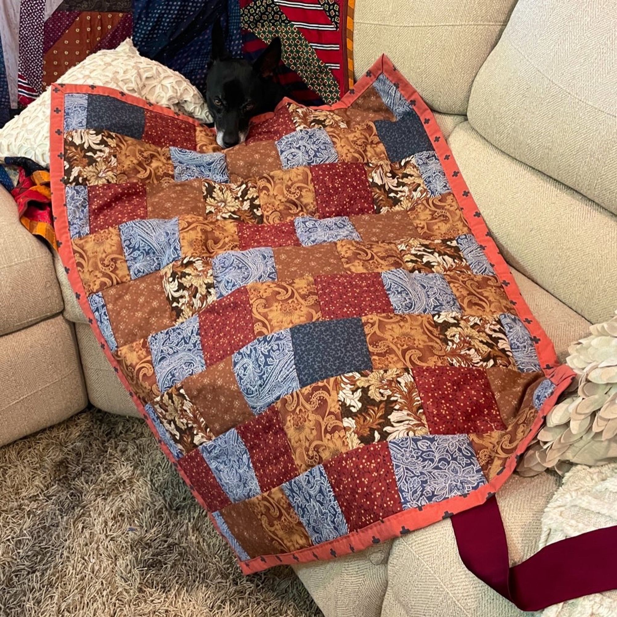
<instances>
[{"instance_id":1,"label":"light blue paisley quilt square just right of the dog's snout","mask_svg":"<svg viewBox=\"0 0 617 617\"><path fill-rule=\"evenodd\" d=\"M339 160L332 139L323 128L303 128L283 135L275 143L283 169Z\"/></svg>"}]
</instances>

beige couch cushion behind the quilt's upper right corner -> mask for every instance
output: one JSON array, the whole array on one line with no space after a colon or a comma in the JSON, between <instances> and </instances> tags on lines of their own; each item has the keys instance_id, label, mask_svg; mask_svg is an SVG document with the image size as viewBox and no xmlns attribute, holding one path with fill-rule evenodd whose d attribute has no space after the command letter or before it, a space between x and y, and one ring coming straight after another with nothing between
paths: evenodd
<instances>
[{"instance_id":1,"label":"beige couch cushion behind the quilt's upper right corner","mask_svg":"<svg viewBox=\"0 0 617 617\"><path fill-rule=\"evenodd\" d=\"M362 75L385 53L429 107L465 114L471 83L514 4L515 0L357 0L355 74Z\"/></svg>"}]
</instances>

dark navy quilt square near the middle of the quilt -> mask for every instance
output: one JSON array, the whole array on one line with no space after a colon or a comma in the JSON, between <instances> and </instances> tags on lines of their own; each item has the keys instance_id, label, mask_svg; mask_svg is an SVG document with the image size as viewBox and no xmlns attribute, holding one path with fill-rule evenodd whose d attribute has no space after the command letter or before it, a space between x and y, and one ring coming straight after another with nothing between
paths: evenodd
<instances>
[{"instance_id":1,"label":"dark navy quilt square near the middle of the quilt","mask_svg":"<svg viewBox=\"0 0 617 617\"><path fill-rule=\"evenodd\" d=\"M342 373L372 370L362 320L314 321L291 328L300 387Z\"/></svg>"}]
</instances>

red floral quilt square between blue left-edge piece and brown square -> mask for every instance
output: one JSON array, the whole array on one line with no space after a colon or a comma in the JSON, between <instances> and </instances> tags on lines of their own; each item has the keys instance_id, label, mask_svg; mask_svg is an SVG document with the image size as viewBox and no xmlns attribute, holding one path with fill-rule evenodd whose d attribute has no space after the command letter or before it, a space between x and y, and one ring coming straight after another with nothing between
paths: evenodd
<instances>
[{"instance_id":1,"label":"red floral quilt square between blue left-edge piece and brown square","mask_svg":"<svg viewBox=\"0 0 617 617\"><path fill-rule=\"evenodd\" d=\"M146 186L139 183L88 186L90 233L147 218Z\"/></svg>"}]
</instances>

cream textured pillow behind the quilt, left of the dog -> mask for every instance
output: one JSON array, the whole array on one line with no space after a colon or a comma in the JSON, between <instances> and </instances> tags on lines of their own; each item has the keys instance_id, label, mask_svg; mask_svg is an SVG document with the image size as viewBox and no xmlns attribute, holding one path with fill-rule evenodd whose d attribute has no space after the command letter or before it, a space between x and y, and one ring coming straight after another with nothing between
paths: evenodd
<instances>
[{"instance_id":1,"label":"cream textured pillow behind the quilt, left of the dog","mask_svg":"<svg viewBox=\"0 0 617 617\"><path fill-rule=\"evenodd\" d=\"M116 88L181 114L211 122L199 90L159 62L139 55L131 39L104 49L70 68L62 83ZM23 156L49 166L49 89L0 130L0 157Z\"/></svg>"}]
</instances>

